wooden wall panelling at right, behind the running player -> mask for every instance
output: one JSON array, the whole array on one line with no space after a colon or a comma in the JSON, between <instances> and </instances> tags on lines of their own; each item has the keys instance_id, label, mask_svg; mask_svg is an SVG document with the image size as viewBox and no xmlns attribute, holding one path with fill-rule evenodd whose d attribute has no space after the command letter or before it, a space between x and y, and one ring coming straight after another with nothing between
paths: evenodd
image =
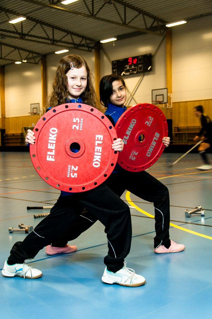
<instances>
[{"instance_id":1,"label":"wooden wall panelling at right, behind the running player","mask_svg":"<svg viewBox=\"0 0 212 319\"><path fill-rule=\"evenodd\" d=\"M200 126L199 119L193 114L193 108L202 105L204 113L212 119L212 99L172 103L172 127L175 126Z\"/></svg>"}]
</instances>

